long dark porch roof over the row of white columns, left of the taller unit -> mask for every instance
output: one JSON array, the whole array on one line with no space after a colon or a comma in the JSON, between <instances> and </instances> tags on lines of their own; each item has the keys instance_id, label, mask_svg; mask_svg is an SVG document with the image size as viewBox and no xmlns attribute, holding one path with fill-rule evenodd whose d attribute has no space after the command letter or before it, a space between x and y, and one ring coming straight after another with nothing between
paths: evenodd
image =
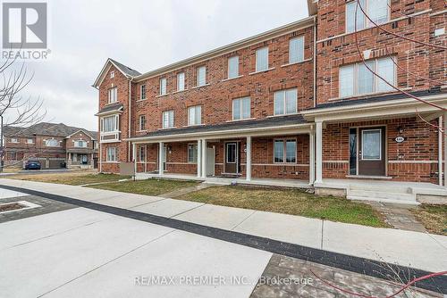
<instances>
[{"instance_id":1,"label":"long dark porch roof over the row of white columns, left of the taller unit","mask_svg":"<svg viewBox=\"0 0 447 298\"><path fill-rule=\"evenodd\" d=\"M150 138L169 138L169 137L187 137L201 136L210 134L225 134L247 131L259 131L274 128L299 128L310 126L311 123L305 120L300 114L293 114L282 117L271 117L262 120L241 120L232 121L215 125L198 125L186 128L169 128L151 131L146 135L132 137L127 140L139 141Z\"/></svg>"}]
</instances>

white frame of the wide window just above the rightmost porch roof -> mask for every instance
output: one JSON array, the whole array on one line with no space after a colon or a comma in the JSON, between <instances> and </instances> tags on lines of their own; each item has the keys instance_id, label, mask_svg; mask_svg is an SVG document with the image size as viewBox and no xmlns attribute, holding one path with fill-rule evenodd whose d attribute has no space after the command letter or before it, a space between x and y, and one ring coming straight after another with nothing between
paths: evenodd
<instances>
[{"instance_id":1,"label":"white frame of the wide window just above the rightmost porch roof","mask_svg":"<svg viewBox=\"0 0 447 298\"><path fill-rule=\"evenodd\" d=\"M375 59L370 59L367 60L367 62L374 62L374 70L376 73L379 73L380 70L378 68L379 65L379 61L382 61L384 59L392 59L394 61L394 59L396 59L395 56L385 56L385 57L380 57L380 58L375 58ZM380 94L380 93L389 93L389 92L393 92L395 91L395 89L391 88L389 90L379 90L379 83L382 81L382 79L378 78L377 76L375 76L375 74L373 73L373 87L374 90L371 93L358 93L358 65L362 64L363 62L357 62L357 63L353 63L353 64L347 64L347 65L342 65L339 68L339 97L341 98L349 98L349 97L355 97L355 96L361 96L361 95L371 95L371 94ZM347 67L353 67L354 68L354 75L353 75L353 79L354 81L353 83L353 94L352 95L341 95L341 90L342 90L342 76L340 75L340 72L343 68L347 68ZM394 62L392 62L392 68L393 68L393 78L392 78L392 83L394 84L394 86L397 86L397 67L394 64ZM369 71L369 70L368 70ZM386 84L386 83L384 83ZM387 85L388 86L388 85Z\"/></svg>"}]
</instances>

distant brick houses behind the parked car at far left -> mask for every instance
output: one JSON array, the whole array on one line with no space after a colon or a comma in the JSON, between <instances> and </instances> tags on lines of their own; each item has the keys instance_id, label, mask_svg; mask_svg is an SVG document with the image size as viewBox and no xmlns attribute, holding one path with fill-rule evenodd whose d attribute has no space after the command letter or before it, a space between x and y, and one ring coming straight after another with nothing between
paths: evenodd
<instances>
[{"instance_id":1,"label":"distant brick houses behind the parked car at far left","mask_svg":"<svg viewBox=\"0 0 447 298\"><path fill-rule=\"evenodd\" d=\"M97 132L63 123L4 127L4 165L21 167L33 158L42 169L97 168Z\"/></svg>"}]
</instances>

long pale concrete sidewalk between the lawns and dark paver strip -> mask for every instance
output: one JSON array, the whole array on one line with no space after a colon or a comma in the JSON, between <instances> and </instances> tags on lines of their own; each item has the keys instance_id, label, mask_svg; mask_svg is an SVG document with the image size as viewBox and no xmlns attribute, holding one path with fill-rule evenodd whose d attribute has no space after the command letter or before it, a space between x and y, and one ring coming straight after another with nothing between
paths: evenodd
<instances>
[{"instance_id":1,"label":"long pale concrete sidewalk between the lawns and dark paver strip","mask_svg":"<svg viewBox=\"0 0 447 298\"><path fill-rule=\"evenodd\" d=\"M370 228L265 211L215 206L147 195L132 195L81 186L0 179L0 187L16 186L53 195L146 212L215 228L386 261L432 272L447 269L447 236ZM4 192L0 189L0 192ZM1 194L0 194L1 195Z\"/></svg>"}]
</instances>

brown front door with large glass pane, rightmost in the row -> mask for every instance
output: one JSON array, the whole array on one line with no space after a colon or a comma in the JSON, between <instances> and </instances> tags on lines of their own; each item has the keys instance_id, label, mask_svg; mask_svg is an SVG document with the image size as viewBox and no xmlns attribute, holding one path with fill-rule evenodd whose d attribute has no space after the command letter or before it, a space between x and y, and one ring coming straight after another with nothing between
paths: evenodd
<instances>
[{"instance_id":1,"label":"brown front door with large glass pane, rightmost in the row","mask_svg":"<svg viewBox=\"0 0 447 298\"><path fill-rule=\"evenodd\" d=\"M385 129L358 130L358 175L385 176Z\"/></svg>"}]
</instances>

